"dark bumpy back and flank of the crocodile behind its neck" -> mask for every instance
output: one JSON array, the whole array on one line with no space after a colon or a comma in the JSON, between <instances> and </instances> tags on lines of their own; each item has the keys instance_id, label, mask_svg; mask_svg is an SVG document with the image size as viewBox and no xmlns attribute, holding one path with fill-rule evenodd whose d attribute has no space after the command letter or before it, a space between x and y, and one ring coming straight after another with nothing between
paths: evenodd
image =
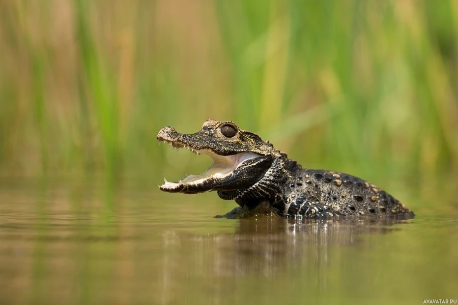
<instances>
[{"instance_id":1,"label":"dark bumpy back and flank of the crocodile behind its neck","mask_svg":"<svg viewBox=\"0 0 458 305\"><path fill-rule=\"evenodd\" d=\"M304 169L288 178L274 206L283 215L339 216L402 215L413 213L370 182L352 175Z\"/></svg>"}]
</instances>

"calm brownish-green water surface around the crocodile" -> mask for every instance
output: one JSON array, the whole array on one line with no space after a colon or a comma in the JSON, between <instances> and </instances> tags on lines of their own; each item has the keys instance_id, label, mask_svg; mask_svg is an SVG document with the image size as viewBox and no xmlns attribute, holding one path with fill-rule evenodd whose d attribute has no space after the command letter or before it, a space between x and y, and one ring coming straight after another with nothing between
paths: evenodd
<instances>
[{"instance_id":1,"label":"calm brownish-green water surface around the crocodile","mask_svg":"<svg viewBox=\"0 0 458 305\"><path fill-rule=\"evenodd\" d=\"M154 186L117 192L111 202L84 185L1 180L0 304L458 298L453 208L416 209L407 221L226 220L213 216L235 203L216 194Z\"/></svg>"}]
</instances>

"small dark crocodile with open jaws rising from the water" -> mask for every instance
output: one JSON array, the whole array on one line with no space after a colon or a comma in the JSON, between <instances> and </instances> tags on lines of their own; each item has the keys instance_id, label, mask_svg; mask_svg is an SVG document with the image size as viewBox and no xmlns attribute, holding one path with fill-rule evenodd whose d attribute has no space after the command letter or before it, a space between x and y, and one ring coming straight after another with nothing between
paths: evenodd
<instances>
[{"instance_id":1,"label":"small dark crocodile with open jaws rising from the water","mask_svg":"<svg viewBox=\"0 0 458 305\"><path fill-rule=\"evenodd\" d=\"M237 212L242 209L301 218L414 217L409 208L374 184L346 173L302 168L272 143L232 121L209 119L194 134L164 127L157 140L213 159L202 174L178 182L164 178L160 190L217 191L221 199L239 205L227 217L240 215Z\"/></svg>"}]
</instances>

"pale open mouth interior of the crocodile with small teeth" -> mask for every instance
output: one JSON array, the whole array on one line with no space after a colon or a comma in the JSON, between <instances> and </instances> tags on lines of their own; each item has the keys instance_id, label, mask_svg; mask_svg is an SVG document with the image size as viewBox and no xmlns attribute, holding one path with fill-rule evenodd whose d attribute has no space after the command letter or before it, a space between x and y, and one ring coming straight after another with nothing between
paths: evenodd
<instances>
[{"instance_id":1,"label":"pale open mouth interior of the crocodile with small teeth","mask_svg":"<svg viewBox=\"0 0 458 305\"><path fill-rule=\"evenodd\" d=\"M243 166L247 160L262 157L254 153L239 153L230 156L220 156L215 154L210 149L195 149L178 141L171 141L164 138L158 138L159 142L168 143L177 149L186 148L196 155L207 155L213 159L213 164L210 168L198 175L189 175L178 182L169 182L164 178L164 184L159 186L162 191L180 192L187 186L198 186L205 184L207 180L214 178L224 178L230 175L234 170Z\"/></svg>"}]
</instances>

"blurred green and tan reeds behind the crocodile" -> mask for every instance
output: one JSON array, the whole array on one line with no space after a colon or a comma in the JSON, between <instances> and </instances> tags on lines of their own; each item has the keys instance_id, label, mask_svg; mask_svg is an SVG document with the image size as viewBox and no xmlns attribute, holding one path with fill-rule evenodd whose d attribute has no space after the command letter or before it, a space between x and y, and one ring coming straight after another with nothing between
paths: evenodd
<instances>
[{"instance_id":1,"label":"blurred green and tan reeds behind the crocodile","mask_svg":"<svg viewBox=\"0 0 458 305\"><path fill-rule=\"evenodd\" d=\"M412 200L456 189L457 78L453 0L3 0L0 173L159 192L210 163L160 128L230 119Z\"/></svg>"}]
</instances>

